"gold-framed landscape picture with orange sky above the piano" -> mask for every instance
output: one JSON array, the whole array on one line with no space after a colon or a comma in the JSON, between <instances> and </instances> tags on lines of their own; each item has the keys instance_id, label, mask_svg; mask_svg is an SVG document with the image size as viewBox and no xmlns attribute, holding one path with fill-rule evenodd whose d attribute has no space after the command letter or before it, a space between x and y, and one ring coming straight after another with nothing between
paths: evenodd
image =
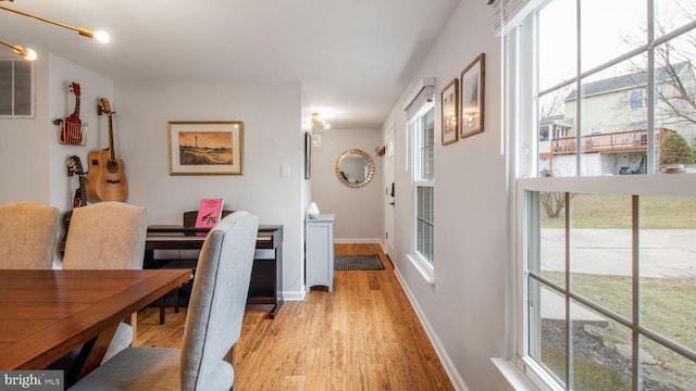
<instances>
[{"instance_id":1,"label":"gold-framed landscape picture with orange sky above the piano","mask_svg":"<svg viewBox=\"0 0 696 391\"><path fill-rule=\"evenodd\" d=\"M170 122L170 175L243 175L244 124Z\"/></svg>"}]
</instances>

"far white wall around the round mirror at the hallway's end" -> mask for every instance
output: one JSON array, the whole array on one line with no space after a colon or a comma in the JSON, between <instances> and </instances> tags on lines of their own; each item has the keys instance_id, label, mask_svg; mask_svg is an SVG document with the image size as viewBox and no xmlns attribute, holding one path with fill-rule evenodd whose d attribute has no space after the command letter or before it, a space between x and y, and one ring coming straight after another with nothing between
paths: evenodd
<instances>
[{"instance_id":1,"label":"far white wall around the round mirror at the hallway's end","mask_svg":"<svg viewBox=\"0 0 696 391\"><path fill-rule=\"evenodd\" d=\"M321 213L335 214L334 240L349 243L381 242L382 165L374 149L382 142L378 129L314 130L321 147L312 148L312 197ZM362 188L345 186L336 176L336 162L351 149L366 152L375 164L372 180Z\"/></svg>"}]
</instances>

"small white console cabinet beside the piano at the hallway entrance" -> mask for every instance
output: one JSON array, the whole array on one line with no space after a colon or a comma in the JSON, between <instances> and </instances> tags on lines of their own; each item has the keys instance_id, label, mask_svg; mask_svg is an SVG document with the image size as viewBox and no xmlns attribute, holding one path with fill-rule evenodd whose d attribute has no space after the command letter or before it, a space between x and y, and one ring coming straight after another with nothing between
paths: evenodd
<instances>
[{"instance_id":1,"label":"small white console cabinet beside the piano at the hallway entrance","mask_svg":"<svg viewBox=\"0 0 696 391\"><path fill-rule=\"evenodd\" d=\"M334 291L334 215L304 220L304 285Z\"/></svg>"}]
</instances>

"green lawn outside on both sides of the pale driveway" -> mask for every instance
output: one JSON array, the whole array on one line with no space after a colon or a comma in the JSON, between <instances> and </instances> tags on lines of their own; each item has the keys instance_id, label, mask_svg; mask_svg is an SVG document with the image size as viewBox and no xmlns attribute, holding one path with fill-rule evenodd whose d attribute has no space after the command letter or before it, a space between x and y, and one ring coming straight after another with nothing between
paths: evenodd
<instances>
[{"instance_id":1,"label":"green lawn outside on both sides of the pale driveway","mask_svg":"<svg viewBox=\"0 0 696 391\"><path fill-rule=\"evenodd\" d=\"M631 197L583 193L573 195L570 202L572 228L630 229L632 226ZM696 198L641 197L638 211L641 228L644 229L696 229ZM543 215L542 226L563 228L564 211L559 218ZM563 283L562 273L545 272L544 276ZM572 290L627 318L633 315L630 278L573 274ZM639 290L642 326L696 350L696 279L643 278ZM618 324L611 327L631 341L629 329ZM696 383L696 366L693 362L647 343L642 348L657 361L650 367L651 378L668 383L670 379ZM605 369L593 369L587 364L583 370L594 370L597 379L606 379L618 389L625 387L621 380L606 374Z\"/></svg>"}]
</instances>

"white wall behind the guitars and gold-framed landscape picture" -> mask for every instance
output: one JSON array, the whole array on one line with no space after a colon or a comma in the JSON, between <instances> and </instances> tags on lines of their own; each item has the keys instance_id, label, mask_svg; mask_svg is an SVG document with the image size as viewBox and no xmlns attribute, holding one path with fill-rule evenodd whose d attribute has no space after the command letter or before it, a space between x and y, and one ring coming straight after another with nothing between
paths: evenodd
<instances>
[{"instance_id":1,"label":"white wall behind the guitars and gold-framed landscape picture","mask_svg":"<svg viewBox=\"0 0 696 391\"><path fill-rule=\"evenodd\" d=\"M109 98L116 157L124 162L126 202L148 209L149 224L181 224L182 213L201 198L223 197L225 207L247 210L261 224L284 226L283 289L286 300L301 299L303 213L310 186L303 178L302 92L299 84L120 84L61 58L37 62L37 115L2 119L1 202L33 200L61 211L72 207L77 179L66 176L76 154L88 169L87 154L108 146L108 118L97 115ZM73 112L70 81L80 84L80 118L87 146L58 142L54 118ZM272 91L272 93L270 93ZM272 114L270 114L272 113ZM167 122L244 122L244 175L171 176ZM21 166L9 169L12 162ZM289 176L282 176L282 167Z\"/></svg>"}]
</instances>

